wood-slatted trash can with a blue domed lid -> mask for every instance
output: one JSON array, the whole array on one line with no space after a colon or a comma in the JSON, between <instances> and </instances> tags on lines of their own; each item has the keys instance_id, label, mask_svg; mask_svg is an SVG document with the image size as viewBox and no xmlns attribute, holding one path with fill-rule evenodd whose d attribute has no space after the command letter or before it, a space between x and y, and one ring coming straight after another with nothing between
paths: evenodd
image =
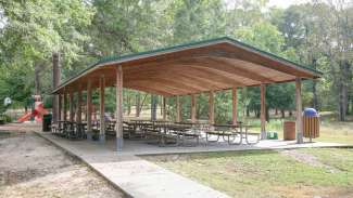
<instances>
[{"instance_id":1,"label":"wood-slatted trash can with a blue domed lid","mask_svg":"<svg viewBox=\"0 0 353 198\"><path fill-rule=\"evenodd\" d=\"M303 136L316 138L319 136L319 116L314 108L305 108L303 113Z\"/></svg>"}]
</instances>

